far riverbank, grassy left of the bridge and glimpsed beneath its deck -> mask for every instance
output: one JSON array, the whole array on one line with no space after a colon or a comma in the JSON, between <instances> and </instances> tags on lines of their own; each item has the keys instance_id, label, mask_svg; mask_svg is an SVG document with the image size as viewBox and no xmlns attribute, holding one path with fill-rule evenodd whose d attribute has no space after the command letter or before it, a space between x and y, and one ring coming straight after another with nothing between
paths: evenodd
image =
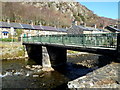
<instances>
[{"instance_id":1,"label":"far riverbank, grassy left of the bridge and glimpsed beneath its deck","mask_svg":"<svg viewBox=\"0 0 120 90\"><path fill-rule=\"evenodd\" d=\"M13 59L24 59L25 49L21 42L0 42L0 59L2 60L13 60ZM68 50L68 56L77 56L88 54L85 52L76 52Z\"/></svg>"}]
</instances>

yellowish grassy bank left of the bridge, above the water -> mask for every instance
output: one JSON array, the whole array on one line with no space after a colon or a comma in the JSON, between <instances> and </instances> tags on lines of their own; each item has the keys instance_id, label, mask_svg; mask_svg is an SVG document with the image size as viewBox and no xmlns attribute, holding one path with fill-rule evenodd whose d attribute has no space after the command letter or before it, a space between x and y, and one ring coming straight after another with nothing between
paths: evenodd
<instances>
[{"instance_id":1,"label":"yellowish grassy bank left of the bridge, above the water","mask_svg":"<svg viewBox=\"0 0 120 90\"><path fill-rule=\"evenodd\" d=\"M21 42L0 42L0 50L0 59L24 57L24 47Z\"/></svg>"}]
</instances>

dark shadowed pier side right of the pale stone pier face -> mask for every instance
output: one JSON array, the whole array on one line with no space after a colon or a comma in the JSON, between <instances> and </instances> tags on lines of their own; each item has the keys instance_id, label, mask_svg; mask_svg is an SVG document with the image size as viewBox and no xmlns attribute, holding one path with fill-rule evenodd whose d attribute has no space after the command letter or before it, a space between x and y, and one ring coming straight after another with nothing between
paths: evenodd
<instances>
[{"instance_id":1,"label":"dark shadowed pier side right of the pale stone pier face","mask_svg":"<svg viewBox=\"0 0 120 90\"><path fill-rule=\"evenodd\" d=\"M50 57L51 66L57 67L63 65L67 61L67 50L60 47L46 46Z\"/></svg>"}]
</instances>

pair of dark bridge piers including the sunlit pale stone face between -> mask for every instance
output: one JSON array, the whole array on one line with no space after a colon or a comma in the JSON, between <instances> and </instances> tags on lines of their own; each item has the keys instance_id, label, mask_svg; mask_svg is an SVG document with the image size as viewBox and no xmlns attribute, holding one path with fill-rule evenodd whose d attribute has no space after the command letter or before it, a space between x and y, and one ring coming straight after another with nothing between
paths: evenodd
<instances>
[{"instance_id":1,"label":"pair of dark bridge piers including the sunlit pale stone face between","mask_svg":"<svg viewBox=\"0 0 120 90\"><path fill-rule=\"evenodd\" d=\"M42 45L32 44L25 46L29 59L34 60L43 67L58 67L67 61L67 50L65 48L53 46L43 47Z\"/></svg>"}]
</instances>

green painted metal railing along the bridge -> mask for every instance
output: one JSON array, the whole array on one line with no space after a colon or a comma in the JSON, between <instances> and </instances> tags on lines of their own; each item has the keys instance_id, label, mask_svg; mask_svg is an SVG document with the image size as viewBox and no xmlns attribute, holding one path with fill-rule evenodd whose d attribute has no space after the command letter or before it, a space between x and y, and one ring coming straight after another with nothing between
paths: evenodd
<instances>
[{"instance_id":1,"label":"green painted metal railing along the bridge","mask_svg":"<svg viewBox=\"0 0 120 90\"><path fill-rule=\"evenodd\" d=\"M117 33L41 35L23 37L23 42L116 48L117 35Z\"/></svg>"}]
</instances>

